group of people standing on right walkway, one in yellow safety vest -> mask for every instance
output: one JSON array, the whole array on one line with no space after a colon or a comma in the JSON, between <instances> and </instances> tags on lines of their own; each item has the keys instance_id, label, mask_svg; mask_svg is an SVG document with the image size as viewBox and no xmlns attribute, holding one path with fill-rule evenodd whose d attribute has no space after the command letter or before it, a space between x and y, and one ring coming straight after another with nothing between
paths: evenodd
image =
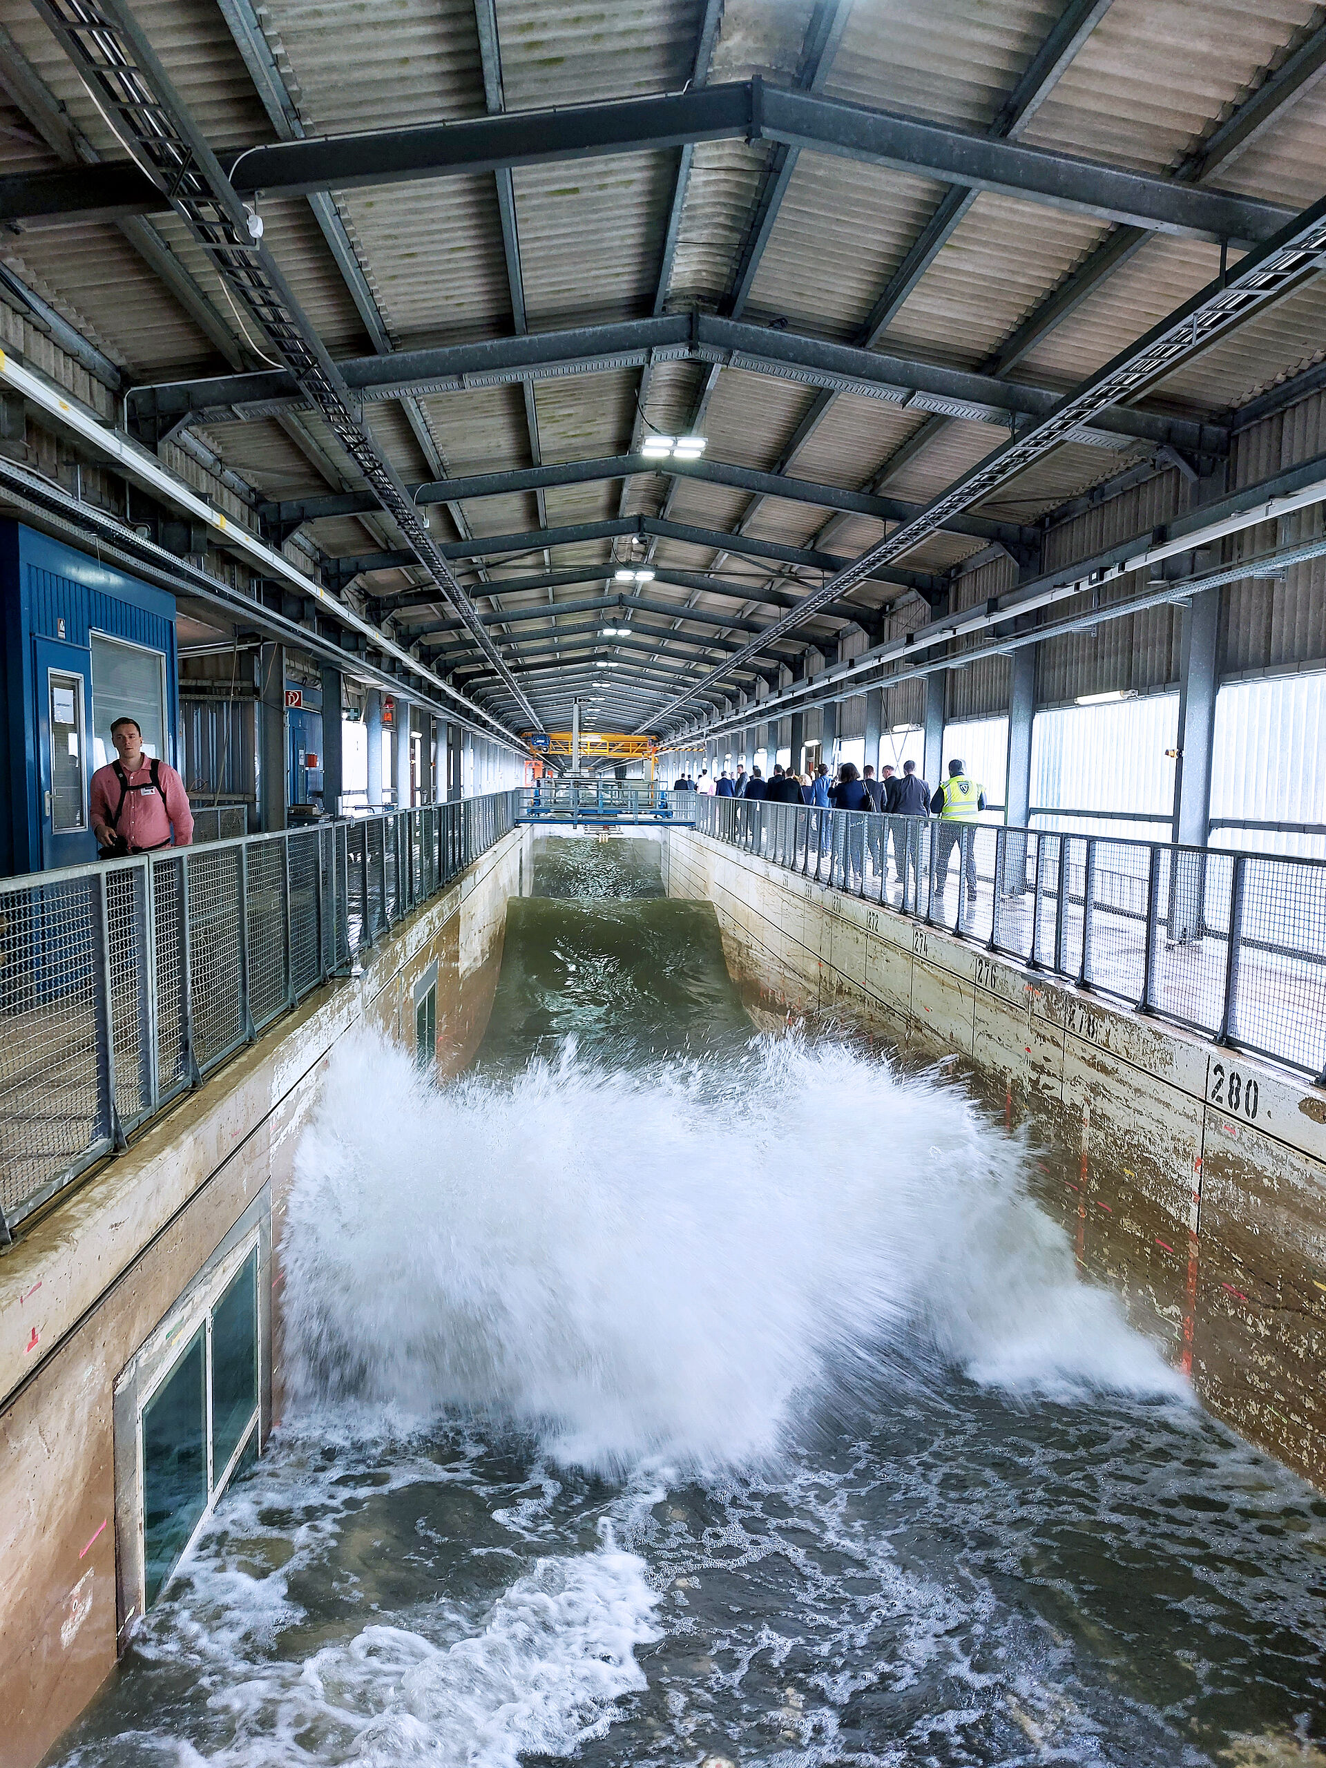
<instances>
[{"instance_id":1,"label":"group of people standing on right walkway, one in yellow safety vest","mask_svg":"<svg viewBox=\"0 0 1326 1768\"><path fill-rule=\"evenodd\" d=\"M979 812L985 810L985 789L967 774L965 764L960 760L948 764L948 780L934 792L918 774L916 762L911 760L902 764L902 771L880 767L879 778L873 767L857 769L854 762L842 762L836 780L829 778L826 762L820 762L813 774L797 774L790 767L774 766L767 780L758 767L751 767L750 773L737 767L735 776L725 767L718 778L704 769L698 780L682 774L681 780L674 781L672 790L704 792L709 797L741 797L748 803L808 804L812 810L857 810L880 817L937 817L935 879L941 891L948 880L953 849L962 845L964 827L974 824ZM827 850L827 826L820 840ZM868 820L865 827L857 826L849 831L843 854L845 868L859 872L868 850L875 868L882 870L886 863L884 842L886 831L870 827ZM919 863L919 847L907 824L893 827L893 863L898 884L907 882L909 865L916 872ZM967 891L976 895L976 847L971 838L965 842L962 863L967 873Z\"/></svg>"}]
</instances>

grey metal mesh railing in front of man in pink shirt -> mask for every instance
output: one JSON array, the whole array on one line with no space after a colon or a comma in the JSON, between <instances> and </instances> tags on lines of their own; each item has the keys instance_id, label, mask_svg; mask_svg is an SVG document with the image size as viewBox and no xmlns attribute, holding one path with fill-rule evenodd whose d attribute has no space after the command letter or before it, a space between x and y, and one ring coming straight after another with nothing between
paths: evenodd
<instances>
[{"instance_id":1,"label":"grey metal mesh railing in front of man in pink shirt","mask_svg":"<svg viewBox=\"0 0 1326 1768\"><path fill-rule=\"evenodd\" d=\"M520 794L0 880L0 1245L516 824Z\"/></svg>"}]
</instances>

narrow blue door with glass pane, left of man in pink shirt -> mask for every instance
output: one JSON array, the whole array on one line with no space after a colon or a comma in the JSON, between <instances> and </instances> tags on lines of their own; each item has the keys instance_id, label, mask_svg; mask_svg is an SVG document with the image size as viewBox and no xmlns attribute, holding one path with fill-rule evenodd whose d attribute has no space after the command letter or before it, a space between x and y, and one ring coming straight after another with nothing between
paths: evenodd
<instances>
[{"instance_id":1,"label":"narrow blue door with glass pane, left of man in pink shirt","mask_svg":"<svg viewBox=\"0 0 1326 1768\"><path fill-rule=\"evenodd\" d=\"M34 638L37 695L37 831L41 868L97 857L88 817L90 656L78 645Z\"/></svg>"}]
</instances>

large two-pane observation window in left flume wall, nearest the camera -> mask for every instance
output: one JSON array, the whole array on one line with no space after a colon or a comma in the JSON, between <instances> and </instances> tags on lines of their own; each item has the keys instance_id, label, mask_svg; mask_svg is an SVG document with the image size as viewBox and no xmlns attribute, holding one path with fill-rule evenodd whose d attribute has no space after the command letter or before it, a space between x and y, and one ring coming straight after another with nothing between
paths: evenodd
<instances>
[{"instance_id":1,"label":"large two-pane observation window in left flume wall, nearest the camera","mask_svg":"<svg viewBox=\"0 0 1326 1768\"><path fill-rule=\"evenodd\" d=\"M258 1234L249 1232L117 1384L117 1432L131 1425L134 1437L129 1480L117 1478L120 1538L136 1547L122 1589L129 1619L157 1600L226 1485L256 1459L258 1324ZM127 1418L126 1383L134 1402Z\"/></svg>"}]
</instances>

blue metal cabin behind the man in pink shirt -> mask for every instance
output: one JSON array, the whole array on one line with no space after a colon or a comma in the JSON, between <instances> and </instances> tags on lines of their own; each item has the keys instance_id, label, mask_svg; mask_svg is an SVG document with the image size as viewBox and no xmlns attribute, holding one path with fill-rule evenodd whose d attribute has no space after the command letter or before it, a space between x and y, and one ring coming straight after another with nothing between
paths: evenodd
<instances>
[{"instance_id":1,"label":"blue metal cabin behind the man in pink shirt","mask_svg":"<svg viewBox=\"0 0 1326 1768\"><path fill-rule=\"evenodd\" d=\"M92 774L129 713L177 766L175 598L88 553L0 522L0 716L9 739L0 877L95 859Z\"/></svg>"}]
</instances>

